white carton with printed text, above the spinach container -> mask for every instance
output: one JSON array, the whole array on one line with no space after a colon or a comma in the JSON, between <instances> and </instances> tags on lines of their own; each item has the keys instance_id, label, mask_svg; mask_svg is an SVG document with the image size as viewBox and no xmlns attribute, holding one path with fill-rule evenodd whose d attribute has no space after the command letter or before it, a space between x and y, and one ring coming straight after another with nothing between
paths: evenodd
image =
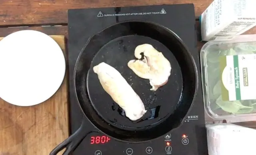
<instances>
[{"instance_id":1,"label":"white carton with printed text, above the spinach container","mask_svg":"<svg viewBox=\"0 0 256 155\"><path fill-rule=\"evenodd\" d=\"M200 16L203 41L232 40L256 26L256 0L214 0Z\"/></svg>"}]
</instances>

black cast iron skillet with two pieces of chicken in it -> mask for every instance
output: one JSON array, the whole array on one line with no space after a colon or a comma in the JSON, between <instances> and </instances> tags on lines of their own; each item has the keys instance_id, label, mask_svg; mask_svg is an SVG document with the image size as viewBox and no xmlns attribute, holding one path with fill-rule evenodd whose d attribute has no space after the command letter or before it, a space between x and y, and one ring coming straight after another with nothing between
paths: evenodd
<instances>
[{"instance_id":1,"label":"black cast iron skillet with two pieces of chicken in it","mask_svg":"<svg viewBox=\"0 0 256 155\"><path fill-rule=\"evenodd\" d=\"M127 66L129 60L135 59L134 50L140 44L151 44L171 63L168 83L157 91L150 91L149 80L139 78ZM130 121L104 91L92 70L100 62L116 68L141 97L148 109L142 119ZM56 155L64 148L64 155L68 155L86 135L98 130L117 141L128 143L161 137L182 125L198 89L196 64L182 40L163 26L141 21L121 22L92 36L80 52L74 79L76 96L85 120L50 155ZM86 127L86 119L95 126L94 131Z\"/></svg>"}]
</instances>

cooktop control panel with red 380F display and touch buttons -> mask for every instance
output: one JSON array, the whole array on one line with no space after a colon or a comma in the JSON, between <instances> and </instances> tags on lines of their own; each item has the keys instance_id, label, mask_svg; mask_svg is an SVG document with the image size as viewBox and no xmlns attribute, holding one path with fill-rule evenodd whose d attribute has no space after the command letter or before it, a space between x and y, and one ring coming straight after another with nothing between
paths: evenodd
<instances>
[{"instance_id":1,"label":"cooktop control panel with red 380F display and touch buttons","mask_svg":"<svg viewBox=\"0 0 256 155\"><path fill-rule=\"evenodd\" d=\"M87 155L198 155L195 131L187 129L175 130L146 143L123 143L101 133L91 133L82 145Z\"/></svg>"}]
</instances>

